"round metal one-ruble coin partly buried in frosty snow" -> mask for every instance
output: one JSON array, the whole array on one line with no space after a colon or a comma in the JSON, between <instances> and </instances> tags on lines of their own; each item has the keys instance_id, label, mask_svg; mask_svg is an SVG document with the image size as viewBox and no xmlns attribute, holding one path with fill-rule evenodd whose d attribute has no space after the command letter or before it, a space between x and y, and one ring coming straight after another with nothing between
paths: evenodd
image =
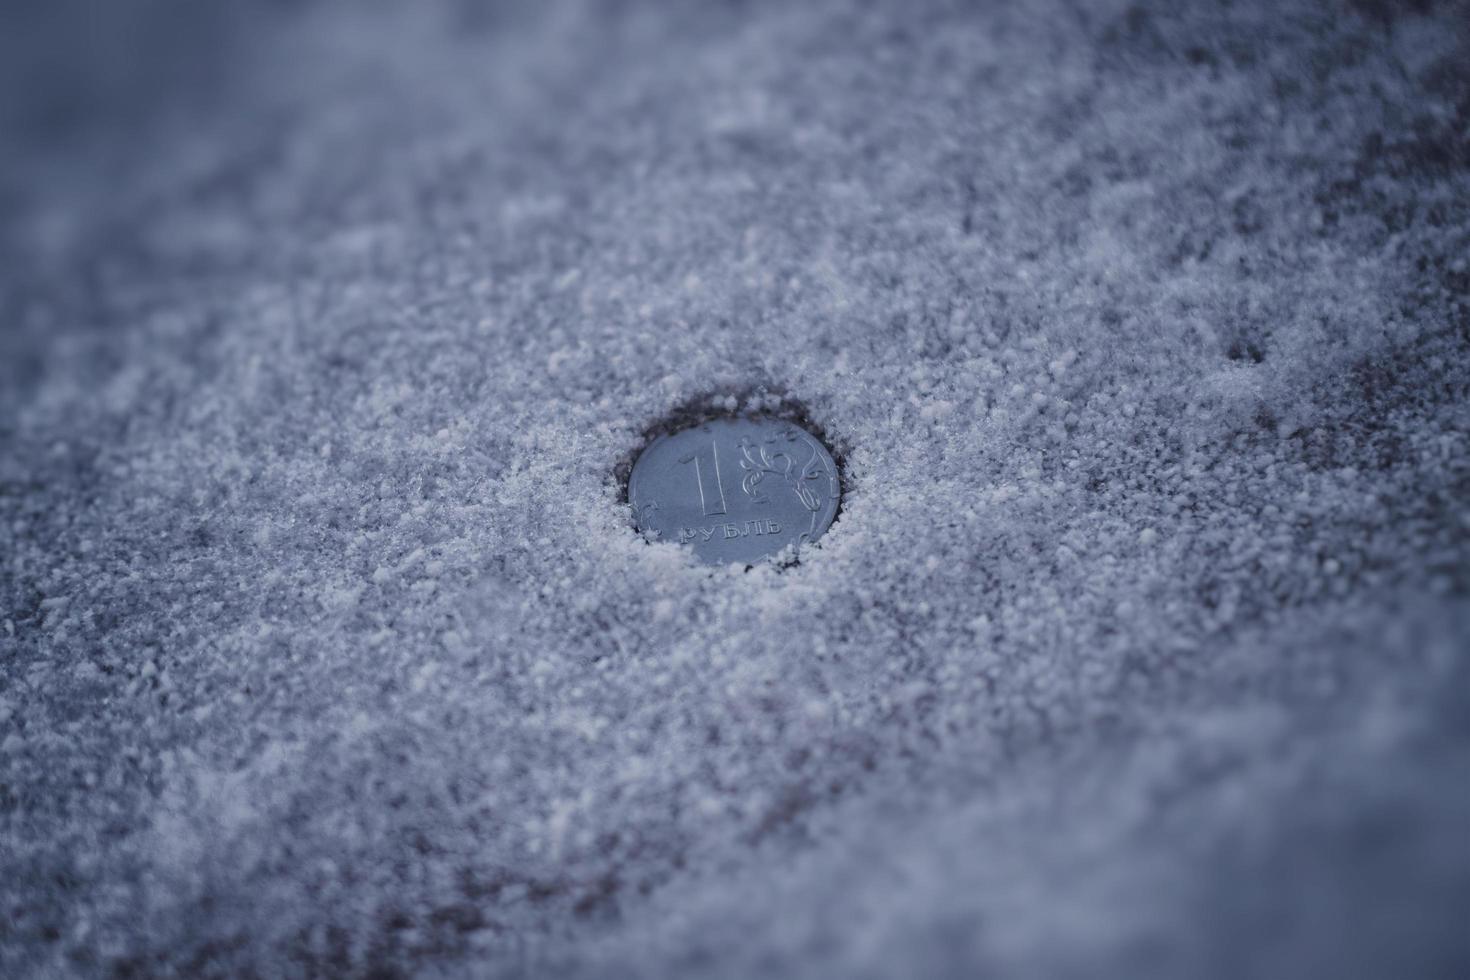
<instances>
[{"instance_id":1,"label":"round metal one-ruble coin partly buried in frosty snow","mask_svg":"<svg viewBox=\"0 0 1470 980\"><path fill-rule=\"evenodd\" d=\"M710 563L816 541L836 517L836 463L785 419L716 419L662 435L628 478L638 529Z\"/></svg>"}]
</instances>

